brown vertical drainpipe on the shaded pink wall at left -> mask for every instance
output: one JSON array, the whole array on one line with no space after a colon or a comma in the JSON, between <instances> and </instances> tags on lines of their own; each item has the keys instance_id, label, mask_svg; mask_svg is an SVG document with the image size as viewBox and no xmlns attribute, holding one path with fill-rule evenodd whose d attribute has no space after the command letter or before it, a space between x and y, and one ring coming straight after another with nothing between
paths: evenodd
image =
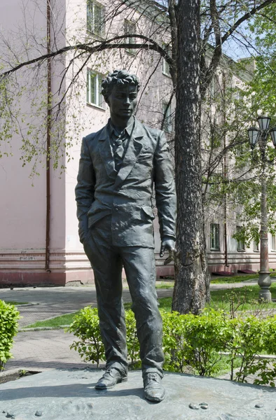
<instances>
[{"instance_id":1,"label":"brown vertical drainpipe on the shaded pink wall at left","mask_svg":"<svg viewBox=\"0 0 276 420\"><path fill-rule=\"evenodd\" d=\"M50 24L51 5L47 1L47 54L50 54ZM50 140L51 140L51 119L52 119L52 80L51 80L51 59L47 59L47 121L46 121L46 247L45 247L45 270L50 273Z\"/></svg>"}]
</instances>

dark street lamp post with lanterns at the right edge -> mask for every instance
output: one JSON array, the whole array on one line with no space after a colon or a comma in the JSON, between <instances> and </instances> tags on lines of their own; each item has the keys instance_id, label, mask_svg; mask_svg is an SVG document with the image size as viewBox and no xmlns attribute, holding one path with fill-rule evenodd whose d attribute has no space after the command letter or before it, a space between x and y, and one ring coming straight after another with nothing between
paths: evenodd
<instances>
[{"instance_id":1,"label":"dark street lamp post with lanterns at the right edge","mask_svg":"<svg viewBox=\"0 0 276 420\"><path fill-rule=\"evenodd\" d=\"M252 152L256 144L258 143L259 150L261 153L262 173L261 173L261 250L260 250L260 271L258 276L258 286L261 290L259 293L259 299L265 300L266 302L271 301L270 293L270 271L269 271L269 260L268 260L268 207L267 207L267 192L266 192L266 174L265 167L267 164L271 164L275 158L268 160L266 157L266 146L268 143L268 134L272 138L272 143L276 148L276 127L269 129L270 117L258 117L258 126L250 127L248 130L249 143Z\"/></svg>"}]
</instances>

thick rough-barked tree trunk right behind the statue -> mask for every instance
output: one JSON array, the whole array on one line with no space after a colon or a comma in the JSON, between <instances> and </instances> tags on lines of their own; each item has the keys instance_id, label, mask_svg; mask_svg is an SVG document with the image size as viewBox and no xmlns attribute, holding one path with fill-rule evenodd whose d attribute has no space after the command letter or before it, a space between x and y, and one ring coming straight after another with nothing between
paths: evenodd
<instances>
[{"instance_id":1,"label":"thick rough-barked tree trunk right behind the statue","mask_svg":"<svg viewBox=\"0 0 276 420\"><path fill-rule=\"evenodd\" d=\"M198 314L209 301L200 153L200 0L179 0L175 176L177 255L172 310Z\"/></svg>"}]
</instances>

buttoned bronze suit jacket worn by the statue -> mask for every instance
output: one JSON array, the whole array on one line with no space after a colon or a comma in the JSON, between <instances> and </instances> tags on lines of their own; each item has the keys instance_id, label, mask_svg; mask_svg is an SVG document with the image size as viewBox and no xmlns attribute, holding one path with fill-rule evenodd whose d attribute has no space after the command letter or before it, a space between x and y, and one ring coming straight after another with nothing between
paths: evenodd
<instances>
[{"instance_id":1,"label":"buttoned bronze suit jacket worn by the statue","mask_svg":"<svg viewBox=\"0 0 276 420\"><path fill-rule=\"evenodd\" d=\"M118 173L108 125L84 137L76 186L81 242L89 228L109 215L113 245L153 247L153 186L161 239L175 238L176 195L164 133L135 119Z\"/></svg>"}]
</instances>

